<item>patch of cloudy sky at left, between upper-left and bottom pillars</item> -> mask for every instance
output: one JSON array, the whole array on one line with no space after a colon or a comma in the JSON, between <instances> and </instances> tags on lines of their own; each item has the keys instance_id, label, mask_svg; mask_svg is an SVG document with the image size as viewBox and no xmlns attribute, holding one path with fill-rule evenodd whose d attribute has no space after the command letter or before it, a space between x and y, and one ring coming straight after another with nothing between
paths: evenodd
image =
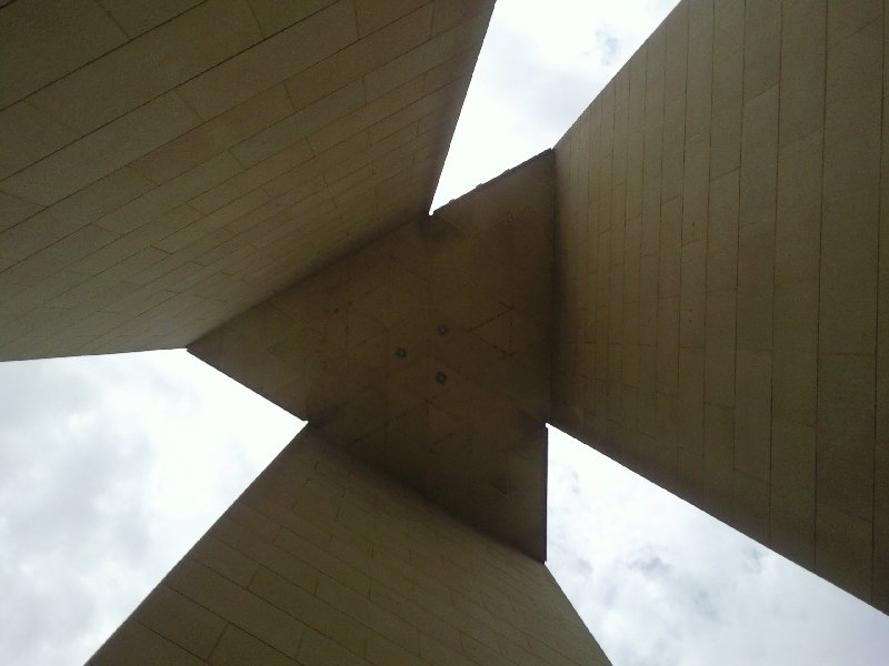
<instances>
[{"instance_id":1,"label":"patch of cloudy sky at left, between upper-left and bottom pillars","mask_svg":"<svg viewBox=\"0 0 889 666\"><path fill-rule=\"evenodd\" d=\"M0 363L0 664L86 662L298 427L184 352Z\"/></svg>"}]
</instances>

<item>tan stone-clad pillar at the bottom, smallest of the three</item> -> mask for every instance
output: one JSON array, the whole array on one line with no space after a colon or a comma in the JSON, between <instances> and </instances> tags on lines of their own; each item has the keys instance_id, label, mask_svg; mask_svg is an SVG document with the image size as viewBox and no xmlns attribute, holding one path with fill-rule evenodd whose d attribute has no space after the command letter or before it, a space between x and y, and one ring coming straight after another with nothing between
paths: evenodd
<instances>
[{"instance_id":1,"label":"tan stone-clad pillar at the bottom, smallest of the three","mask_svg":"<svg viewBox=\"0 0 889 666\"><path fill-rule=\"evenodd\" d=\"M540 563L312 427L89 660L608 666Z\"/></svg>"}]
</instances>

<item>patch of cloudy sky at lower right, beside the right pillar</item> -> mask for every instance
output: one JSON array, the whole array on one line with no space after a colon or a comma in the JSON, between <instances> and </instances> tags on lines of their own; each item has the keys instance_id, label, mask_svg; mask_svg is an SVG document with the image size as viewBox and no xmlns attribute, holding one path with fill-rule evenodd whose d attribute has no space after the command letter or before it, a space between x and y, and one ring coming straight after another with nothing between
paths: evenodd
<instances>
[{"instance_id":1,"label":"patch of cloudy sky at lower right, beside the right pillar","mask_svg":"<svg viewBox=\"0 0 889 666\"><path fill-rule=\"evenodd\" d=\"M889 617L550 428L547 563L615 666L886 664Z\"/></svg>"}]
</instances>

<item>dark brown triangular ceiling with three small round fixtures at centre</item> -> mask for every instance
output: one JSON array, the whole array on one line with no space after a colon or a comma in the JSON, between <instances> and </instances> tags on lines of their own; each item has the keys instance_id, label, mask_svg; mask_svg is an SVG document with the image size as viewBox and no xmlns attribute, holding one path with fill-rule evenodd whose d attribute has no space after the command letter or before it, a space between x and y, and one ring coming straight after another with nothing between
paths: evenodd
<instances>
[{"instance_id":1,"label":"dark brown triangular ceiling with three small round fixtures at centre","mask_svg":"<svg viewBox=\"0 0 889 666\"><path fill-rule=\"evenodd\" d=\"M189 350L542 562L553 204L548 151Z\"/></svg>"}]
</instances>

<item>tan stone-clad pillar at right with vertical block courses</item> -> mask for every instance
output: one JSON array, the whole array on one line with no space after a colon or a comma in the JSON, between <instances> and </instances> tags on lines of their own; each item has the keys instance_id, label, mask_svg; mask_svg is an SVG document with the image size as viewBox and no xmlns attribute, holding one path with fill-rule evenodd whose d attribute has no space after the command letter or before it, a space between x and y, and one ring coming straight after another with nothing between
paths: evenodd
<instances>
[{"instance_id":1,"label":"tan stone-clad pillar at right with vertical block courses","mask_svg":"<svg viewBox=\"0 0 889 666\"><path fill-rule=\"evenodd\" d=\"M556 147L551 405L883 612L887 30L680 2Z\"/></svg>"}]
</instances>

